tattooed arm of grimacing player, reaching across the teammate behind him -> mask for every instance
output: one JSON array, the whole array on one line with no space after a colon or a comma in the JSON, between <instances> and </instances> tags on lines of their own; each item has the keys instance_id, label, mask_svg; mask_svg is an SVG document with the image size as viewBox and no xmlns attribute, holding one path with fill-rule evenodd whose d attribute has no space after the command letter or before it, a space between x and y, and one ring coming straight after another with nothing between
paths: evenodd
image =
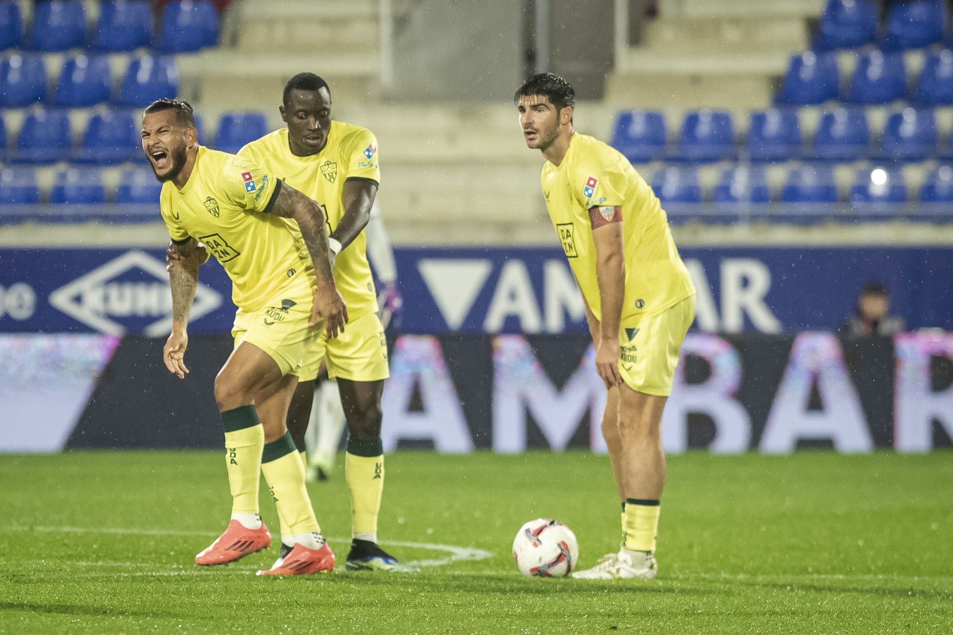
<instances>
[{"instance_id":1,"label":"tattooed arm of grimacing player, reaching across the teammate behind him","mask_svg":"<svg viewBox=\"0 0 953 635\"><path fill-rule=\"evenodd\" d=\"M324 231L324 214L321 206L298 190L280 184L280 190L274 199L271 212L275 216L293 218L305 247L314 262L314 275L317 288L314 291L314 305L311 311L311 324L324 320L328 337L337 337L344 332L348 321L348 309L335 287L335 277L331 272L331 250L328 248L328 235Z\"/></svg>"}]
</instances>

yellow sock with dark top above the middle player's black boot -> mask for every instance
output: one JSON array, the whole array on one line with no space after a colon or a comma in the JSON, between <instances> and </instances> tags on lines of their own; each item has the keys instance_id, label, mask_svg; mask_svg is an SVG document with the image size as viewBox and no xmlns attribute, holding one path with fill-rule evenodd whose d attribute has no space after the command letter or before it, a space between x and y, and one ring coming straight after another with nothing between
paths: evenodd
<instances>
[{"instance_id":1,"label":"yellow sock with dark top above the middle player's black boot","mask_svg":"<svg viewBox=\"0 0 953 635\"><path fill-rule=\"evenodd\" d=\"M348 439L344 480L351 490L351 535L377 542L377 513L384 491L384 446L380 437Z\"/></svg>"}]
</instances>

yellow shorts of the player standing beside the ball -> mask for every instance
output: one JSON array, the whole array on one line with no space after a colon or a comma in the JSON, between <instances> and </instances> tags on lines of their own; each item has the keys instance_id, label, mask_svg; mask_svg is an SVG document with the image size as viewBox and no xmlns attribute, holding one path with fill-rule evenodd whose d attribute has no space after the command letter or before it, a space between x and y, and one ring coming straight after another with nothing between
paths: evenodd
<instances>
[{"instance_id":1,"label":"yellow shorts of the player standing beside the ball","mask_svg":"<svg viewBox=\"0 0 953 635\"><path fill-rule=\"evenodd\" d=\"M618 329L618 372L628 387L647 395L672 393L679 348L695 320L695 296Z\"/></svg>"}]
</instances>

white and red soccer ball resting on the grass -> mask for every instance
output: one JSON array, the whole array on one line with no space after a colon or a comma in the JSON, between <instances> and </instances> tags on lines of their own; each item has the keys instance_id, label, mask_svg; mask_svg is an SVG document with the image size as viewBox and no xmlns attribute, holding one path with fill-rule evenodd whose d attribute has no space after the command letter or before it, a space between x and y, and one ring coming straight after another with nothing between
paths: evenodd
<instances>
[{"instance_id":1,"label":"white and red soccer ball resting on the grass","mask_svg":"<svg viewBox=\"0 0 953 635\"><path fill-rule=\"evenodd\" d=\"M576 566L579 546L569 527L548 518L537 518L519 527L513 539L513 559L523 575L561 578Z\"/></svg>"}]
</instances>

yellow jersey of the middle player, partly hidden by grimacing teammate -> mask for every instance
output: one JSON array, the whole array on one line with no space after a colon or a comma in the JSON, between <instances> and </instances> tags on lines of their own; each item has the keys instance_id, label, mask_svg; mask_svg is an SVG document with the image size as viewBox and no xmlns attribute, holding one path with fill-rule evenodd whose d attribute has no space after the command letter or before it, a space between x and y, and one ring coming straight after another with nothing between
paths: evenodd
<instances>
[{"instance_id":1,"label":"yellow jersey of the middle player, partly hidden by grimacing teammate","mask_svg":"<svg viewBox=\"0 0 953 635\"><path fill-rule=\"evenodd\" d=\"M288 129L283 128L248 144L238 150L238 155L269 169L292 188L320 203L329 234L344 216L341 194L346 181L361 179L380 184L374 134L369 129L339 121L331 122L328 142L317 154L292 154L288 145ZM287 219L286 222L295 234L300 235L294 220ZM364 231L358 233L354 241L337 254L334 273L335 285L352 320L367 311L377 310L377 293L367 261L367 237Z\"/></svg>"}]
</instances>

